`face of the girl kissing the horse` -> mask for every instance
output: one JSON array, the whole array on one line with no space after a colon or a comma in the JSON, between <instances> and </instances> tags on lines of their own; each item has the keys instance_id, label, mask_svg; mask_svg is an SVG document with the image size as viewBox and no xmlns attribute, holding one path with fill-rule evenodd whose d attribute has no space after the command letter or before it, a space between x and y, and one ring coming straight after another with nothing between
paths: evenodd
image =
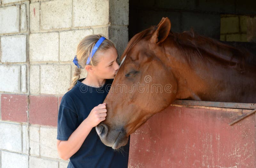
<instances>
[{"instance_id":1,"label":"face of the girl kissing the horse","mask_svg":"<svg viewBox=\"0 0 256 168\"><path fill-rule=\"evenodd\" d=\"M97 53L99 63L94 66L94 75L101 79L114 79L119 68L117 63L117 52L115 47Z\"/></svg>"}]
</instances>

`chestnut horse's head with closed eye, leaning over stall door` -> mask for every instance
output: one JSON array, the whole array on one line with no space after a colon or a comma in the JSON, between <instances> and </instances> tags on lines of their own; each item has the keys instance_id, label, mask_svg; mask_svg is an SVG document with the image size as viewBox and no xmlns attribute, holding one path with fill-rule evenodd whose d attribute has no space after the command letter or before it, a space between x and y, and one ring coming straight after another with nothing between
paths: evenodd
<instances>
[{"instance_id":1,"label":"chestnut horse's head with closed eye, leaning over stall door","mask_svg":"<svg viewBox=\"0 0 256 168\"><path fill-rule=\"evenodd\" d=\"M124 146L132 132L175 99L177 81L164 51L170 29L170 20L163 18L157 27L138 33L128 43L104 100L106 120L96 127L105 145Z\"/></svg>"}]
</instances>

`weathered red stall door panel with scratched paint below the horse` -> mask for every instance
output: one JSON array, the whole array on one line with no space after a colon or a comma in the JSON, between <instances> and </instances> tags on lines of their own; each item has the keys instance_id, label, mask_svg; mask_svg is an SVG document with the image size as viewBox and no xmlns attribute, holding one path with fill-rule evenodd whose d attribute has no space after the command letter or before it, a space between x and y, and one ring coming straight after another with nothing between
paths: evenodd
<instances>
[{"instance_id":1,"label":"weathered red stall door panel with scratched paint below the horse","mask_svg":"<svg viewBox=\"0 0 256 168\"><path fill-rule=\"evenodd\" d=\"M221 108L220 108L221 109ZM254 168L255 114L168 107L131 135L129 167Z\"/></svg>"}]
</instances>

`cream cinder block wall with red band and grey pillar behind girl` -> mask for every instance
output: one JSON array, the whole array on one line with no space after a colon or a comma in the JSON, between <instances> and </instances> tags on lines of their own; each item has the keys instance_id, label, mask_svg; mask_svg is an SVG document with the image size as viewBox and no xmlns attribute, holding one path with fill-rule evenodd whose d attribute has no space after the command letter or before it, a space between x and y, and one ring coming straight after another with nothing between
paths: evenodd
<instances>
[{"instance_id":1,"label":"cream cinder block wall with red band and grey pillar behind girl","mask_svg":"<svg viewBox=\"0 0 256 168\"><path fill-rule=\"evenodd\" d=\"M0 167L67 167L57 116L77 44L102 34L121 54L128 8L128 0L0 0Z\"/></svg>"}]
</instances>

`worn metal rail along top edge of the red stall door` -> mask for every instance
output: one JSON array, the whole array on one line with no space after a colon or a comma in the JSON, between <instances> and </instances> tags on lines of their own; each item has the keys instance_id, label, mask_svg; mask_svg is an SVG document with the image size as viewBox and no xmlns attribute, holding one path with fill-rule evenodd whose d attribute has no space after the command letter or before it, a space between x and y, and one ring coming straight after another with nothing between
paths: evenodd
<instances>
[{"instance_id":1,"label":"worn metal rail along top edge of the red stall door","mask_svg":"<svg viewBox=\"0 0 256 168\"><path fill-rule=\"evenodd\" d=\"M255 109L256 103L232 103L232 102L215 102L215 101L196 101L196 100L176 100L172 105L185 106L206 106L219 108L239 108L239 109Z\"/></svg>"}]
</instances>

